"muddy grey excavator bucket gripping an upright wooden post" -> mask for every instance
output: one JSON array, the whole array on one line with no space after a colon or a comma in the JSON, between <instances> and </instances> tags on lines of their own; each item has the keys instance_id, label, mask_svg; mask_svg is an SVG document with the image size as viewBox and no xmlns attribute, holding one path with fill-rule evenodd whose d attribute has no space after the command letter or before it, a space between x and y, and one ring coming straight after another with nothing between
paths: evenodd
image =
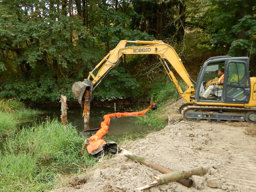
<instances>
[{"instance_id":1,"label":"muddy grey excavator bucket gripping an upright wooden post","mask_svg":"<svg viewBox=\"0 0 256 192\"><path fill-rule=\"evenodd\" d=\"M93 88L93 83L89 79L84 79L83 82L77 81L72 85L72 92L77 98L78 102L81 103L83 101L83 95L85 90L89 90L89 101L87 104L91 102L93 99L92 96L92 88Z\"/></svg>"}]
</instances>

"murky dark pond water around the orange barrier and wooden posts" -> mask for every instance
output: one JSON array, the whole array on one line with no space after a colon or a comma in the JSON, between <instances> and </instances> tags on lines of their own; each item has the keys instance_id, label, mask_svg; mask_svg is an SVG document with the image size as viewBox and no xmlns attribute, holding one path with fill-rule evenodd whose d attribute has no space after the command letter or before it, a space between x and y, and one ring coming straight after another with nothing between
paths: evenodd
<instances>
[{"instance_id":1,"label":"murky dark pond water around the orange barrier and wooden posts","mask_svg":"<svg viewBox=\"0 0 256 192\"><path fill-rule=\"evenodd\" d=\"M145 106L143 109L146 109ZM40 109L40 108L39 108ZM41 108L43 111L36 119L33 121L41 121L44 119L52 119L58 118L60 119L61 111L60 108ZM133 105L116 105L116 112L135 112L135 106ZM83 109L79 108L71 108L67 111L68 123L71 123L79 132L88 129L87 125L83 123L82 117ZM89 129L97 129L100 128L100 123L104 121L103 116L105 114L114 113L114 104L113 105L95 105L90 108L90 124ZM132 121L132 118L129 116L124 116L120 118L111 118L109 125L109 133L115 137L122 135L124 132L145 132L151 131L154 127L148 127L147 125L139 125L135 124Z\"/></svg>"}]
</instances>

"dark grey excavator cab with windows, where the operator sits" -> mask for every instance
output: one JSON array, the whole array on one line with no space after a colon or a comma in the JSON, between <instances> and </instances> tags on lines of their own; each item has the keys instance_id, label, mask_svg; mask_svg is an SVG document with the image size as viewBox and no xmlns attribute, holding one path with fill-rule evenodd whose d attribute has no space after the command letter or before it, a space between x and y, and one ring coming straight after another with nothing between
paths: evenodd
<instances>
[{"instance_id":1,"label":"dark grey excavator cab with windows, where the operator sits","mask_svg":"<svg viewBox=\"0 0 256 192\"><path fill-rule=\"evenodd\" d=\"M206 100L201 100L200 96L208 85L211 85L211 81L218 81L216 72L220 68L224 69L223 89L215 87L212 95ZM230 56L209 58L201 68L196 84L198 102L248 103L251 94L249 58Z\"/></svg>"}]
</instances>

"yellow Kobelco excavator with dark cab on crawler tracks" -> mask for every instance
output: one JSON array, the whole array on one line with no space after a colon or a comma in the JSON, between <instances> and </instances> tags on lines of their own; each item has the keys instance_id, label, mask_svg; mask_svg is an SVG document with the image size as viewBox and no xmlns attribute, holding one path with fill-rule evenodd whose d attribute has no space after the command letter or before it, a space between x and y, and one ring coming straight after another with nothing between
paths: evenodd
<instances>
[{"instance_id":1,"label":"yellow Kobelco excavator with dark cab on crawler tracks","mask_svg":"<svg viewBox=\"0 0 256 192\"><path fill-rule=\"evenodd\" d=\"M126 46L127 43L145 44L143 46ZM152 54L158 55L169 78L175 84L178 93L187 104L180 109L185 120L209 121L246 121L256 123L256 77L249 75L248 57L218 56L211 57L201 67L197 81L194 82L176 51L161 40L128 41L119 44L106 55L99 64L89 72L83 82L75 82L72 91L79 103L84 92L89 92L88 103L93 99L93 90L120 62L122 55ZM187 85L185 91L179 86L171 67ZM98 69L96 74L95 70ZM224 69L222 89L213 90L211 96L201 99L212 81L218 81L218 70ZM94 73L95 74L94 74Z\"/></svg>"}]
</instances>

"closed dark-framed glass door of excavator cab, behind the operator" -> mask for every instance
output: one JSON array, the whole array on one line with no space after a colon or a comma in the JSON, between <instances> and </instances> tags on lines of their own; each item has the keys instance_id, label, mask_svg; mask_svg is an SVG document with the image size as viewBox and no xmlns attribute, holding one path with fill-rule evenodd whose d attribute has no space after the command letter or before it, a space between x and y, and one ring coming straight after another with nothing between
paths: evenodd
<instances>
[{"instance_id":1,"label":"closed dark-framed glass door of excavator cab, behind the operator","mask_svg":"<svg viewBox=\"0 0 256 192\"><path fill-rule=\"evenodd\" d=\"M228 60L224 78L224 102L248 103L251 93L249 64L241 60Z\"/></svg>"}]
</instances>

